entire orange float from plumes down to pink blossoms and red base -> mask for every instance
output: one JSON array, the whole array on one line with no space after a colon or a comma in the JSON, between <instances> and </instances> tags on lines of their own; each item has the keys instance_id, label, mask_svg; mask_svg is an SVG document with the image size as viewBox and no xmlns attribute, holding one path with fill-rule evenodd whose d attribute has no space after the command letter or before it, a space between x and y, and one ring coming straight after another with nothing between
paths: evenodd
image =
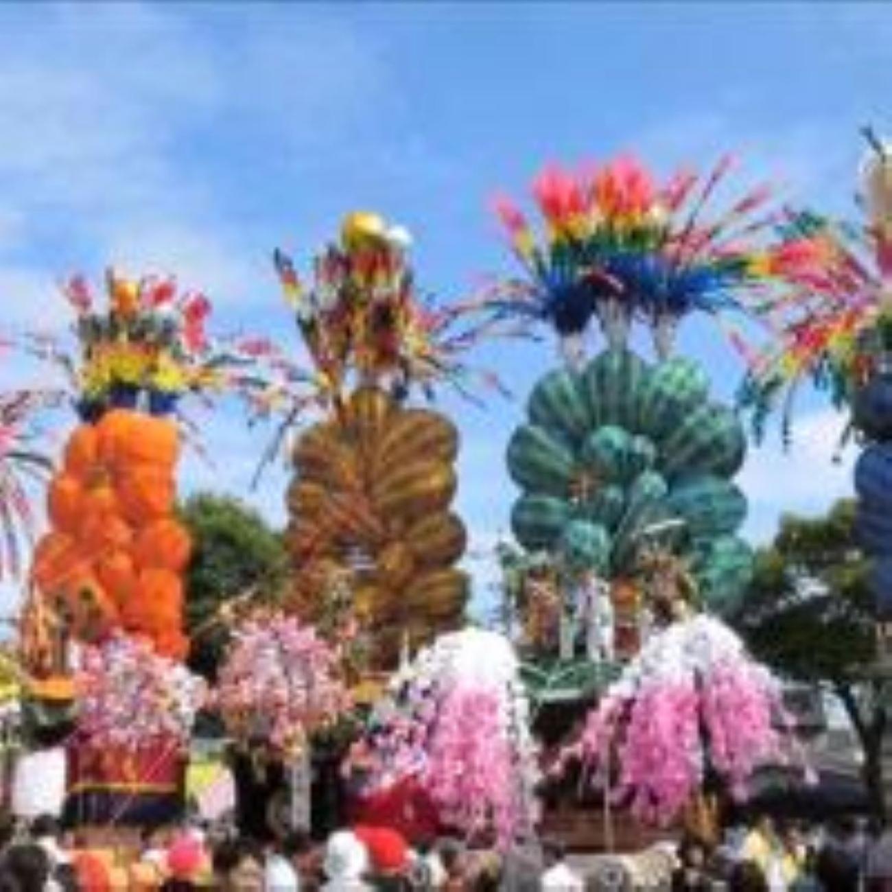
<instances>
[{"instance_id":1,"label":"entire orange float from plumes down to pink blossoms and red base","mask_svg":"<svg viewBox=\"0 0 892 892\"><path fill-rule=\"evenodd\" d=\"M208 338L202 294L111 270L105 285L107 304L83 277L63 287L76 355L29 342L69 376L78 425L49 483L20 630L37 742L66 747L66 813L91 826L169 821L182 807L206 692L183 665L191 542L175 510L176 413L243 368Z\"/></svg>"}]
</instances>

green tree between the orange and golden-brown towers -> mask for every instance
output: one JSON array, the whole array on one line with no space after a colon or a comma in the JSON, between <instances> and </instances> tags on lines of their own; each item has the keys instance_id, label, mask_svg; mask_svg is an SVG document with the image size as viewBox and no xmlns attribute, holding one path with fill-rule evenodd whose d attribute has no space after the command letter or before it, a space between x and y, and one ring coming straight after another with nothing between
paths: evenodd
<instances>
[{"instance_id":1,"label":"green tree between the orange and golden-brown towers","mask_svg":"<svg viewBox=\"0 0 892 892\"><path fill-rule=\"evenodd\" d=\"M228 639L225 607L236 599L277 599L288 580L288 555L281 534L230 496L197 493L181 515L193 538L186 577L189 665L213 679Z\"/></svg>"}]
</instances>

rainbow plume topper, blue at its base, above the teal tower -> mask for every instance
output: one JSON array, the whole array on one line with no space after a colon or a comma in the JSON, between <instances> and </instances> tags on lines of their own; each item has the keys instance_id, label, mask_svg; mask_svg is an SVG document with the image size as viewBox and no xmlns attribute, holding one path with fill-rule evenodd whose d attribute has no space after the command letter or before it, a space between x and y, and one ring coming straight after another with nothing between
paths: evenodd
<instances>
[{"instance_id":1,"label":"rainbow plume topper, blue at its base, above the teal tower","mask_svg":"<svg viewBox=\"0 0 892 892\"><path fill-rule=\"evenodd\" d=\"M581 358L593 317L614 347L640 319L667 355L681 318L739 308L744 293L771 285L771 253L756 244L770 222L757 213L770 190L708 213L731 166L726 157L705 175L680 171L663 182L632 157L579 173L549 166L533 183L541 232L507 198L495 202L527 276L497 285L491 298L554 326L570 359Z\"/></svg>"}]
</instances>

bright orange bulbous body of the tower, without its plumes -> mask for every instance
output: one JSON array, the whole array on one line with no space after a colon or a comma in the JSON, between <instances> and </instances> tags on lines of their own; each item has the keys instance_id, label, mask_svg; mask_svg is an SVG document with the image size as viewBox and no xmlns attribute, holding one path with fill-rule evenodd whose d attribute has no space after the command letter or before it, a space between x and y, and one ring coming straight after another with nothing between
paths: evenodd
<instances>
[{"instance_id":1,"label":"bright orange bulbous body of the tower, without its plumes","mask_svg":"<svg viewBox=\"0 0 892 892\"><path fill-rule=\"evenodd\" d=\"M94 424L79 426L72 441L83 445L89 434L96 441L92 460L87 450L66 450L50 484L52 538L37 550L32 579L69 609L83 599L114 608L100 611L97 626L80 626L80 634L102 636L120 620L126 632L152 639L164 656L183 659L186 640L164 634L181 631L179 574L190 551L189 535L174 515L177 427L136 409L109 409ZM72 453L77 460L69 460ZM61 544L50 544L59 543L60 534L70 537L67 560L56 553Z\"/></svg>"}]
</instances>

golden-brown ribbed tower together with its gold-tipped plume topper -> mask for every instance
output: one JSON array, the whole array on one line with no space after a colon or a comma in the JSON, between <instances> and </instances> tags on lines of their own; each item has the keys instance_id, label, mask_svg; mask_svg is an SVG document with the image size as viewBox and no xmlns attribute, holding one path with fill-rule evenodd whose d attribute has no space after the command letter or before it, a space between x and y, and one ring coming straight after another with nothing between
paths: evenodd
<instances>
[{"instance_id":1,"label":"golden-brown ribbed tower together with its gold-tipped plume topper","mask_svg":"<svg viewBox=\"0 0 892 892\"><path fill-rule=\"evenodd\" d=\"M496 324L475 302L425 301L409 248L403 227L354 212L307 285L275 254L315 368L283 401L285 425L311 403L323 412L293 449L292 607L324 623L332 580L349 580L351 619L377 669L395 667L404 640L417 647L462 623L466 532L451 508L458 430L408 401L443 382L467 392L462 354Z\"/></svg>"}]
</instances>

